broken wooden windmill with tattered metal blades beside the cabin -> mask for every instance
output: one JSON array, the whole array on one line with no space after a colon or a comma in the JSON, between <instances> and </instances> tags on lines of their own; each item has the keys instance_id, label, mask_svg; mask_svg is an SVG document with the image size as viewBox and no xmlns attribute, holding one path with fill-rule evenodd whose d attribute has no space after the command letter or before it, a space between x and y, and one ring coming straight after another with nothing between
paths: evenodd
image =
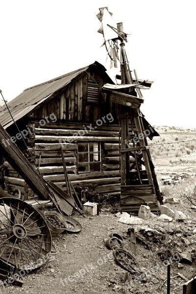
<instances>
[{"instance_id":1,"label":"broken wooden windmill with tattered metal blades beside the cabin","mask_svg":"<svg viewBox=\"0 0 196 294\"><path fill-rule=\"evenodd\" d=\"M140 110L144 103L141 90L149 89L153 82L138 79L136 70L132 76L125 51L127 34L123 31L123 23L116 24L107 7L99 8L97 17L101 23L98 32L104 38L102 46L106 47L111 59L110 67L117 67L117 60L121 67L121 75L117 75L121 84L105 84L102 88L119 107L121 209L136 212L141 204L147 204L151 211L157 211L158 201L163 204L163 200L147 144L147 137L152 139L155 130ZM130 158L134 158L134 162Z\"/></svg>"}]
</instances>

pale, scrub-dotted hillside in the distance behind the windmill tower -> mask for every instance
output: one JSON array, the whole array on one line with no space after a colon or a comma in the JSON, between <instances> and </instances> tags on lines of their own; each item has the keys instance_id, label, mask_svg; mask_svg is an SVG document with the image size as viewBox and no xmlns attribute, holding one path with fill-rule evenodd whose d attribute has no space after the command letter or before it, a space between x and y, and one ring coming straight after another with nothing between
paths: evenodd
<instances>
[{"instance_id":1,"label":"pale, scrub-dotted hillside in the distance behind the windmill tower","mask_svg":"<svg viewBox=\"0 0 196 294\"><path fill-rule=\"evenodd\" d=\"M148 142L156 172L196 172L196 128L153 127L160 134Z\"/></svg>"}]
</instances>

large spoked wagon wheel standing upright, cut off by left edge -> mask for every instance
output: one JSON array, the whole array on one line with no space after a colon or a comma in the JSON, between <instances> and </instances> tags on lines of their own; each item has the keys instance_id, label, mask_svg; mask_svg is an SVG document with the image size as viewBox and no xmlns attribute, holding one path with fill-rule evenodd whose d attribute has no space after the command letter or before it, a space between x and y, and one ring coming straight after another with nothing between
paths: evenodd
<instances>
[{"instance_id":1,"label":"large spoked wagon wheel standing upright, cut off by left edge","mask_svg":"<svg viewBox=\"0 0 196 294\"><path fill-rule=\"evenodd\" d=\"M0 198L0 259L20 270L35 270L50 251L51 235L41 214L18 198Z\"/></svg>"}]
</instances>

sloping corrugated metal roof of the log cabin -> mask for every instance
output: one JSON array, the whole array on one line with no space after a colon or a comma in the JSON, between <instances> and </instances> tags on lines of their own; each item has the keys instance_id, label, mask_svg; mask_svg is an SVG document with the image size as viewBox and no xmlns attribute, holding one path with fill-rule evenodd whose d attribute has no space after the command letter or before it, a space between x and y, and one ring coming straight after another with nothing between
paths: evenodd
<instances>
[{"instance_id":1,"label":"sloping corrugated metal roof of the log cabin","mask_svg":"<svg viewBox=\"0 0 196 294\"><path fill-rule=\"evenodd\" d=\"M104 72L106 71L104 66L96 61L71 73L66 73L42 84L25 89L19 96L7 103L14 120L18 121L56 91L69 84L80 73L87 71L89 67L97 65ZM6 106L0 109L0 123L4 128L7 128L13 123Z\"/></svg>"}]
</instances>

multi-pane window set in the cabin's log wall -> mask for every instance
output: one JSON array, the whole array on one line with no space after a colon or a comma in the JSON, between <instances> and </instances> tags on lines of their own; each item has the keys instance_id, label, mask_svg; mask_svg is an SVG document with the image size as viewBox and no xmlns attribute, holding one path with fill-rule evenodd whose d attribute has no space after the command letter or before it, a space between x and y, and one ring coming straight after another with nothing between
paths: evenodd
<instances>
[{"instance_id":1,"label":"multi-pane window set in the cabin's log wall","mask_svg":"<svg viewBox=\"0 0 196 294\"><path fill-rule=\"evenodd\" d=\"M77 145L78 172L100 172L101 151L100 143L78 143Z\"/></svg>"}]
</instances>

